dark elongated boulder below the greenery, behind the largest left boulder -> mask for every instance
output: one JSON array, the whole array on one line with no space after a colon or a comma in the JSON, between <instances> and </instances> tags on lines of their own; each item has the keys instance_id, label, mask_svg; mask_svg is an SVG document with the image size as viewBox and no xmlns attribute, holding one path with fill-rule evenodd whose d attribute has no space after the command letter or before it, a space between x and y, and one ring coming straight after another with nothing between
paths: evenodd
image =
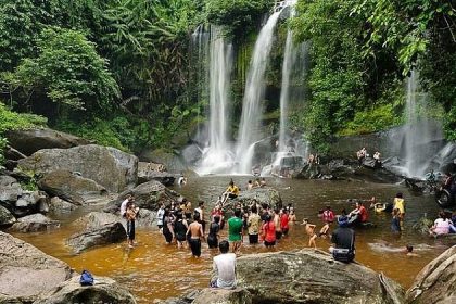
<instances>
[{"instance_id":1,"label":"dark elongated boulder below the greenery, behind the largest left boulder","mask_svg":"<svg viewBox=\"0 0 456 304\"><path fill-rule=\"evenodd\" d=\"M86 139L48 128L11 130L7 132L7 138L13 148L26 155L41 149L67 149L90 143Z\"/></svg>"}]
</instances>

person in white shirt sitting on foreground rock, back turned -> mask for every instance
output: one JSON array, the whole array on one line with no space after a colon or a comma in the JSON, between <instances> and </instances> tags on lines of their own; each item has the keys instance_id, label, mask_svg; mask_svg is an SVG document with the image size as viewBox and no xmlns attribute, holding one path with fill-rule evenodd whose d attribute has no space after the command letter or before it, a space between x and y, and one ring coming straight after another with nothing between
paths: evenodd
<instances>
[{"instance_id":1,"label":"person in white shirt sitting on foreground rock, back turned","mask_svg":"<svg viewBox=\"0 0 456 304\"><path fill-rule=\"evenodd\" d=\"M221 241L218 245L220 254L214 257L213 269L215 277L211 281L212 288L236 288L236 254L228 253L229 243Z\"/></svg>"}]
</instances>

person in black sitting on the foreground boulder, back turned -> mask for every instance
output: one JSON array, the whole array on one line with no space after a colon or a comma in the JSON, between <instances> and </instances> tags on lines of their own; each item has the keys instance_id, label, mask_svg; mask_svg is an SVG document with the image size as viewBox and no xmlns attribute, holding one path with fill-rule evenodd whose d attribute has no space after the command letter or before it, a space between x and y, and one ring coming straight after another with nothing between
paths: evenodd
<instances>
[{"instance_id":1,"label":"person in black sitting on the foreground boulder, back turned","mask_svg":"<svg viewBox=\"0 0 456 304\"><path fill-rule=\"evenodd\" d=\"M355 231L349 228L349 218L341 215L338 218L339 228L332 232L329 252L335 261L350 263L355 258Z\"/></svg>"}]
</instances>

